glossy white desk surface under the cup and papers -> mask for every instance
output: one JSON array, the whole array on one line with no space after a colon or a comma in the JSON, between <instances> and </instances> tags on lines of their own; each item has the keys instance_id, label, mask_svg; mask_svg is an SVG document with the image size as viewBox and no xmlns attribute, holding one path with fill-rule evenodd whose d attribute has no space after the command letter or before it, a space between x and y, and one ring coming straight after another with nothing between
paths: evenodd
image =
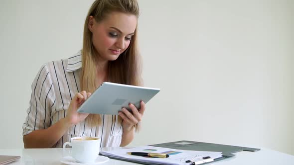
<instances>
[{"instance_id":1,"label":"glossy white desk surface under the cup and papers","mask_svg":"<svg viewBox=\"0 0 294 165\"><path fill-rule=\"evenodd\" d=\"M102 150L111 150L103 148ZM277 151L262 149L257 152L242 151L228 158L208 165L294 165L294 156ZM62 149L12 149L1 150L0 155L17 155L21 159L9 165L64 165L59 162ZM130 162L110 159L103 165L138 165Z\"/></svg>"}]
</instances>

